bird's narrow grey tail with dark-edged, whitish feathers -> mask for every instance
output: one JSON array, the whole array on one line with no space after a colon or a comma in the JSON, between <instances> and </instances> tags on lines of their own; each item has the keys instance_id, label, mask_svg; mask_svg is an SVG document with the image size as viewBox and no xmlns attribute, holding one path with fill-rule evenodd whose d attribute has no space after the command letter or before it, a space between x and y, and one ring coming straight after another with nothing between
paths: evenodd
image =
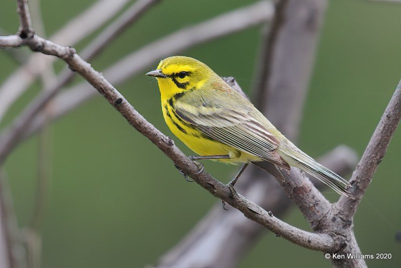
<instances>
[{"instance_id":1,"label":"bird's narrow grey tail with dark-edged, whitish feathers","mask_svg":"<svg viewBox=\"0 0 401 268\"><path fill-rule=\"evenodd\" d=\"M344 180L340 175L336 174L335 172L317 163L316 160L299 150L295 145L291 144L291 147L293 147L291 148L292 150L281 151L286 155L282 155L282 157L291 166L295 166L309 173L340 195L348 197L351 196L351 192L346 189L346 187L352 187L352 185L348 181Z\"/></svg>"}]
</instances>

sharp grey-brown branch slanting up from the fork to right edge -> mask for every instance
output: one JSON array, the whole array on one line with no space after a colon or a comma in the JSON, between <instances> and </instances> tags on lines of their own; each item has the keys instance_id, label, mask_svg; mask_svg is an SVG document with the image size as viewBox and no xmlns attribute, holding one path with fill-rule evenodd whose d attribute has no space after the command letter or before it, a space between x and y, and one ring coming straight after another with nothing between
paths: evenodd
<instances>
[{"instance_id":1,"label":"sharp grey-brown branch slanting up from the fork to right edge","mask_svg":"<svg viewBox=\"0 0 401 268\"><path fill-rule=\"evenodd\" d=\"M352 174L352 197L341 197L336 206L345 219L352 219L401 118L401 81L388 103L356 170Z\"/></svg>"}]
</instances>

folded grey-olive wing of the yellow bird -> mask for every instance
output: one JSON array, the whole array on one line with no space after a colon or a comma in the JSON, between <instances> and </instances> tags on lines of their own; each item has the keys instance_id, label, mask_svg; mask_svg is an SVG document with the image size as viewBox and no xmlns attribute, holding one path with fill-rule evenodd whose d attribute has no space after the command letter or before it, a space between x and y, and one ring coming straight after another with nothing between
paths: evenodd
<instances>
[{"instance_id":1,"label":"folded grey-olive wing of the yellow bird","mask_svg":"<svg viewBox=\"0 0 401 268\"><path fill-rule=\"evenodd\" d=\"M275 150L280 141L252 116L256 108L250 102L251 106L238 99L237 93L231 96L230 101L227 101L226 95L225 103L221 102L222 98L218 95L219 92L216 92L213 95L187 95L176 99L175 112L182 120L214 140L290 169ZM188 101L188 98L197 101ZM202 101L199 102L199 99Z\"/></svg>"}]
</instances>

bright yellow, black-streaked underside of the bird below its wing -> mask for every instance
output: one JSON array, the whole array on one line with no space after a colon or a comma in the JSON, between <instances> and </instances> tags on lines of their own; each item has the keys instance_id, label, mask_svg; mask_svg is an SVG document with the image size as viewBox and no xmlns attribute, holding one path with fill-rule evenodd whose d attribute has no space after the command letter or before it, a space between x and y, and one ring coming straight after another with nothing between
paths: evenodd
<instances>
[{"instance_id":1,"label":"bright yellow, black-streaked underside of the bird below its wing","mask_svg":"<svg viewBox=\"0 0 401 268\"><path fill-rule=\"evenodd\" d=\"M205 136L204 133L180 121L172 114L172 111L167 110L166 107L163 107L163 116L171 132L199 156L229 155L230 159L217 160L227 164L261 161L261 159L256 156L242 152L232 146L225 145Z\"/></svg>"}]
</instances>

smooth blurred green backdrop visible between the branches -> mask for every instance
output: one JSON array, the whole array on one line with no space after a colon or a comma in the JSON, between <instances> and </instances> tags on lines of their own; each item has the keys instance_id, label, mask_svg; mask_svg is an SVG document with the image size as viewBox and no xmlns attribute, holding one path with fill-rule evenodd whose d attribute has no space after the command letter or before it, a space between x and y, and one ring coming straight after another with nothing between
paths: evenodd
<instances>
[{"instance_id":1,"label":"smooth blurred green backdrop visible between the branches","mask_svg":"<svg viewBox=\"0 0 401 268\"><path fill-rule=\"evenodd\" d=\"M56 33L94 2L42 0L47 35ZM162 1L91 63L95 69L103 70L151 41L253 2ZM0 28L9 34L18 28L15 10L14 1L2 3ZM401 3L329 1L298 139L304 152L317 158L344 144L356 150L359 157L362 155L401 78L400 14ZM205 62L222 76L234 76L252 96L261 30L262 26L253 27L179 54ZM90 35L75 45L78 53L92 38ZM19 52L31 53L26 48ZM155 61L143 69L143 75L133 76L117 88L147 120L171 136L162 119L157 83L144 75L157 64ZM0 83L18 67L0 50ZM56 71L63 67L64 62L56 61ZM79 82L82 79L73 81ZM24 93L6 114L1 129L41 88L37 82ZM219 202L198 185L185 182L171 161L101 97L54 122L50 134L50 181L41 223L43 267L152 265ZM173 139L181 150L191 154ZM33 213L38 147L38 137L30 138L5 165L21 227L29 224ZM396 232L401 230L400 152L398 129L355 215L354 231L362 253L392 253L391 260L367 260L370 267L401 265L401 243L395 240ZM204 164L223 182L238 170L235 166ZM330 190L324 194L332 201L338 198ZM311 230L297 209L282 220ZM321 252L271 234L260 239L240 267L264 267L267 263L284 267L300 263L331 266Z\"/></svg>"}]
</instances>

